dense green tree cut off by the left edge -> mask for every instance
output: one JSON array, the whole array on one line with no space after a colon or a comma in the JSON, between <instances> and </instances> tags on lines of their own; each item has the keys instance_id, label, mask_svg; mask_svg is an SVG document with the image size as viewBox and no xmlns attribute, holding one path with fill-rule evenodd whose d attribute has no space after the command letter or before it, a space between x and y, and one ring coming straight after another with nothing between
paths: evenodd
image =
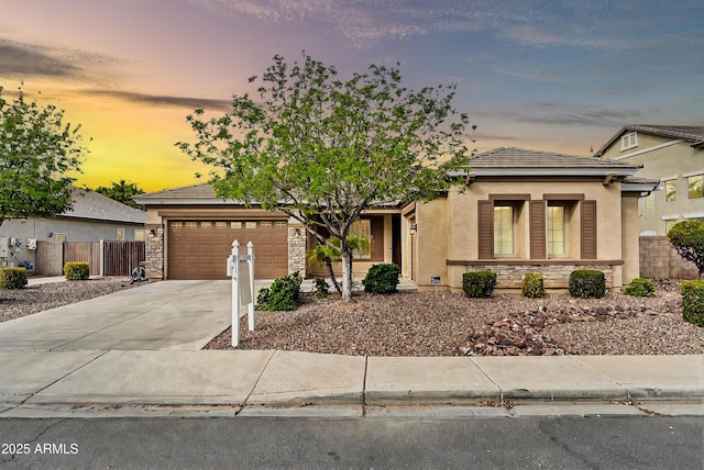
<instances>
[{"instance_id":1,"label":"dense green tree cut off by the left edge","mask_svg":"<svg viewBox=\"0 0 704 470\"><path fill-rule=\"evenodd\" d=\"M75 180L88 152L80 125L64 124L64 111L28 102L20 89L12 102L0 87L0 224L7 217L52 217L72 208Z\"/></svg>"}]
</instances>

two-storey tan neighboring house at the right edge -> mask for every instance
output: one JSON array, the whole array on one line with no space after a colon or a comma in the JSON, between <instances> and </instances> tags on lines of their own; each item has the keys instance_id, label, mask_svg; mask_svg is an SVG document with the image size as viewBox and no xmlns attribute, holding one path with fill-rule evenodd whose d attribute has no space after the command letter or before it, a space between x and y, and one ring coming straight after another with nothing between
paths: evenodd
<instances>
[{"instance_id":1,"label":"two-storey tan neighboring house at the right edge","mask_svg":"<svg viewBox=\"0 0 704 470\"><path fill-rule=\"evenodd\" d=\"M660 181L639 202L641 233L667 235L678 222L704 220L704 126L627 125L596 156L641 165L639 177Z\"/></svg>"}]
</instances>

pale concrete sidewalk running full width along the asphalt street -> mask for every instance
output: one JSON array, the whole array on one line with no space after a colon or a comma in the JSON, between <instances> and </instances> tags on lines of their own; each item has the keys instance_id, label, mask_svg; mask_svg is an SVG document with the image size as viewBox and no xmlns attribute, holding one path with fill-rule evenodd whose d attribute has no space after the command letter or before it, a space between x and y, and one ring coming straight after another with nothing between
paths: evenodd
<instances>
[{"instance_id":1,"label":"pale concrete sidewalk running full width along the asphalt street","mask_svg":"<svg viewBox=\"0 0 704 470\"><path fill-rule=\"evenodd\" d=\"M56 406L689 402L702 356L352 357L272 350L0 352L0 416Z\"/></svg>"}]
</instances>

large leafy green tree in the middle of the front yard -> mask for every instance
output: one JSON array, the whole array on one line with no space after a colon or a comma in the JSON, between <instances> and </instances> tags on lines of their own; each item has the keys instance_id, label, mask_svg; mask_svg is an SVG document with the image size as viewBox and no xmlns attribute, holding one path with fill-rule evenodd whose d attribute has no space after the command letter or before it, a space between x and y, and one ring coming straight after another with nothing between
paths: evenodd
<instances>
[{"instance_id":1,"label":"large leafy green tree in the middle of the front yard","mask_svg":"<svg viewBox=\"0 0 704 470\"><path fill-rule=\"evenodd\" d=\"M411 91L398 69L377 65L342 80L305 53L290 68L275 56L260 81L258 99L235 94L220 118L196 110L187 118L196 143L176 145L215 167L219 195L282 211L321 243L320 227L340 239L349 301L348 236L362 212L432 200L469 161L469 119L452 108L455 86Z\"/></svg>"}]
</instances>

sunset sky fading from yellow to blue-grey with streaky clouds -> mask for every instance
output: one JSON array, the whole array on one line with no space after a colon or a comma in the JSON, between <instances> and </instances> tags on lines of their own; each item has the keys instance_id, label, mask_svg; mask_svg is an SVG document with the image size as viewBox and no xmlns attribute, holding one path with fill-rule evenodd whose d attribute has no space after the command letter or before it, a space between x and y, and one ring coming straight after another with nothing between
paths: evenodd
<instances>
[{"instance_id":1,"label":"sunset sky fading from yellow to blue-grey with streaky clouds","mask_svg":"<svg viewBox=\"0 0 704 470\"><path fill-rule=\"evenodd\" d=\"M702 0L0 0L0 86L56 104L90 153L77 186L205 182L176 148L274 55L342 77L399 64L457 83L470 148L588 156L628 124L704 124Z\"/></svg>"}]
</instances>

